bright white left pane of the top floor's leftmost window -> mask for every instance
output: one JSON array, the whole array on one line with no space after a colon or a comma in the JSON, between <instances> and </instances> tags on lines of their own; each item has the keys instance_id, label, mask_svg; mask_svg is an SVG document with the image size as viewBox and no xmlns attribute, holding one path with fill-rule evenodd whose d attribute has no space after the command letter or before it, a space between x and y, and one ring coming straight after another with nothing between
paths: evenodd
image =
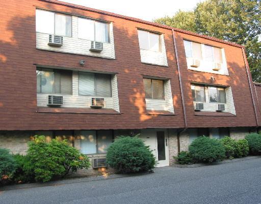
<instances>
[{"instance_id":1,"label":"bright white left pane of the top floor's leftmost window","mask_svg":"<svg viewBox=\"0 0 261 204\"><path fill-rule=\"evenodd\" d=\"M36 32L55 33L55 13L43 10L36 10Z\"/></svg>"}]
</instances>

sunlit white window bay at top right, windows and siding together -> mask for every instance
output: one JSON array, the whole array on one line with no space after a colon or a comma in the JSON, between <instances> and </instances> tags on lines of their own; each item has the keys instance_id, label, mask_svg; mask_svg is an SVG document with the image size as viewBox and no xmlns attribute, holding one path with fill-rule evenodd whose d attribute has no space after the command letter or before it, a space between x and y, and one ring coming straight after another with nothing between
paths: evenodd
<instances>
[{"instance_id":1,"label":"sunlit white window bay at top right, windows and siding together","mask_svg":"<svg viewBox=\"0 0 261 204\"><path fill-rule=\"evenodd\" d=\"M184 47L188 69L229 75L225 51L223 48L213 47L188 40L184 40ZM193 60L195 59L200 61L200 66L191 66L193 65ZM215 63L221 64L220 70L213 70Z\"/></svg>"}]
</instances>

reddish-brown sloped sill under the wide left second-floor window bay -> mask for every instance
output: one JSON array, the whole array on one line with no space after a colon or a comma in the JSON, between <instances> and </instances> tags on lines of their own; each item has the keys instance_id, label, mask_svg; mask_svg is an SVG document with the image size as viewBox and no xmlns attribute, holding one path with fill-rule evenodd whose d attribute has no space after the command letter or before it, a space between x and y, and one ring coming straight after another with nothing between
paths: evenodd
<instances>
[{"instance_id":1,"label":"reddish-brown sloped sill under the wide left second-floor window bay","mask_svg":"<svg viewBox=\"0 0 261 204\"><path fill-rule=\"evenodd\" d=\"M120 114L113 109L91 109L91 108L48 108L38 107L38 113L76 113L76 114Z\"/></svg>"}]
</instances>

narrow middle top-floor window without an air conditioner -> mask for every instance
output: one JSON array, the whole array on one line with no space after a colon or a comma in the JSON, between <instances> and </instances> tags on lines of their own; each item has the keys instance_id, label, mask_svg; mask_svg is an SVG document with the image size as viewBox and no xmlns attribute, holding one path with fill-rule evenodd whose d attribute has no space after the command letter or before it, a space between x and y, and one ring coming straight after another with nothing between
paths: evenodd
<instances>
[{"instance_id":1,"label":"narrow middle top-floor window without an air conditioner","mask_svg":"<svg viewBox=\"0 0 261 204\"><path fill-rule=\"evenodd\" d=\"M140 49L161 52L160 34L138 30Z\"/></svg>"}]
</instances>

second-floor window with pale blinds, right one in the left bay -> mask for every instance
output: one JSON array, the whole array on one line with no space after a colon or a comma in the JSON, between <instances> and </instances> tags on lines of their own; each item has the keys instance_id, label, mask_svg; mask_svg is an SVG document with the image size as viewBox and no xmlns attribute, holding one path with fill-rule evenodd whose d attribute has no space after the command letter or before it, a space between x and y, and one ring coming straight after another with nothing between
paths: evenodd
<instances>
[{"instance_id":1,"label":"second-floor window with pale blinds, right one in the left bay","mask_svg":"<svg viewBox=\"0 0 261 204\"><path fill-rule=\"evenodd\" d=\"M110 74L79 72L79 95L112 96Z\"/></svg>"}]
</instances>

